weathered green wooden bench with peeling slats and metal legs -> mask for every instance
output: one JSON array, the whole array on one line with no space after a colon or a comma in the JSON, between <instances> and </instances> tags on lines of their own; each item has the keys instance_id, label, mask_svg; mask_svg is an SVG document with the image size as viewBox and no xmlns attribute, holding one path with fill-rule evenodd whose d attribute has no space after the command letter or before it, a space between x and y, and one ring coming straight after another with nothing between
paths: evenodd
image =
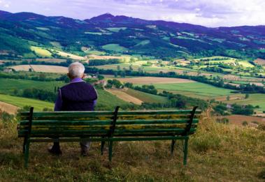
<instances>
[{"instance_id":1,"label":"weathered green wooden bench with peeling slats and metal legs","mask_svg":"<svg viewBox=\"0 0 265 182\"><path fill-rule=\"evenodd\" d=\"M113 142L171 140L171 154L177 139L184 141L183 164L187 164L189 135L196 131L201 111L111 111L94 112L29 112L21 113L18 137L24 137L24 166L28 166L31 142L101 142L108 143L112 159Z\"/></svg>"}]
</instances>

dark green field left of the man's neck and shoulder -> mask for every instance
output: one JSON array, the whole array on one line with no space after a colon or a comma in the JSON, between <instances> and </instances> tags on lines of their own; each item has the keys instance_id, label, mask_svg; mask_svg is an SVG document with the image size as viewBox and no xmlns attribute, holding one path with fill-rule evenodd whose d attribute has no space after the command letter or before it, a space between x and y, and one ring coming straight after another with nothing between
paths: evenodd
<instances>
[{"instance_id":1,"label":"dark green field left of the man's neck and shoulder","mask_svg":"<svg viewBox=\"0 0 265 182\"><path fill-rule=\"evenodd\" d=\"M46 89L54 91L55 86L63 86L64 82L41 82L27 79L6 79L0 78L0 93L12 94L15 89Z\"/></svg>"}]
</instances>

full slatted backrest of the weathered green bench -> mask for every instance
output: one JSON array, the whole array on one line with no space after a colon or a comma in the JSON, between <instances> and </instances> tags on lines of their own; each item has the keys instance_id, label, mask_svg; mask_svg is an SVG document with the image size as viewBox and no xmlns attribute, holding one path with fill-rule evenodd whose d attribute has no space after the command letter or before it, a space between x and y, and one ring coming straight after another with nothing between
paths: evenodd
<instances>
[{"instance_id":1,"label":"full slatted backrest of the weathered green bench","mask_svg":"<svg viewBox=\"0 0 265 182\"><path fill-rule=\"evenodd\" d=\"M19 137L190 135L201 111L24 112Z\"/></svg>"}]
</instances>

